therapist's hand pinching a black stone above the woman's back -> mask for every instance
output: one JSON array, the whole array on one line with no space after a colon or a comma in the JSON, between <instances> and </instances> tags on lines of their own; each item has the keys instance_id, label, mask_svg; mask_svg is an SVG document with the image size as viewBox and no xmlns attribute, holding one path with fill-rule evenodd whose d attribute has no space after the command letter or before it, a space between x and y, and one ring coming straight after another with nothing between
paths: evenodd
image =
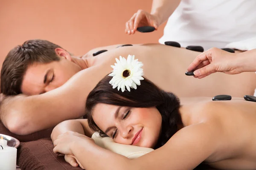
<instances>
[{"instance_id":1,"label":"therapist's hand pinching a black stone above the woman's back","mask_svg":"<svg viewBox=\"0 0 256 170\"><path fill-rule=\"evenodd\" d=\"M188 71L194 71L195 78L204 78L215 72L239 74L242 71L239 57L219 48L211 48L198 55L189 65Z\"/></svg>"}]
</instances>

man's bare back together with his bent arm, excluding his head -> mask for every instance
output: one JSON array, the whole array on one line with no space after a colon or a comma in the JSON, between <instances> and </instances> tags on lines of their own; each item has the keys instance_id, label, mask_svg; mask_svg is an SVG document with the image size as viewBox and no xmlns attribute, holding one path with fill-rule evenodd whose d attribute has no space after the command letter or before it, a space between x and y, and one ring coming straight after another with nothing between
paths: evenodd
<instances>
[{"instance_id":1,"label":"man's bare back together with his bent arm, excluding his head","mask_svg":"<svg viewBox=\"0 0 256 170\"><path fill-rule=\"evenodd\" d=\"M83 116L87 95L111 72L110 65L120 55L135 55L144 64L145 77L178 97L213 97L218 94L241 97L252 95L256 87L255 73L232 76L216 73L204 79L186 76L186 68L199 52L159 44L116 46L97 48L84 55L89 68L79 71L61 87L41 95L12 99L1 116L3 123L15 133L28 134ZM93 52L103 49L108 51L92 56Z\"/></svg>"}]
</instances>

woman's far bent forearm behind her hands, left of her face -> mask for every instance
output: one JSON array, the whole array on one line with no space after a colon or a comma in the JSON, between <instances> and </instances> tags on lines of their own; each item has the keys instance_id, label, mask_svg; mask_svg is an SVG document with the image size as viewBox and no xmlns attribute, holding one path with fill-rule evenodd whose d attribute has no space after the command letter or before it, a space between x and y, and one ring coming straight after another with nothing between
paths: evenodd
<instances>
[{"instance_id":1,"label":"woman's far bent forearm behind her hands, left of her face","mask_svg":"<svg viewBox=\"0 0 256 170\"><path fill-rule=\"evenodd\" d=\"M64 122L59 123L52 130L52 142L54 142L59 135L64 134L68 131L77 132L88 137L91 137L94 133L90 129L87 119L66 120Z\"/></svg>"}]
</instances>

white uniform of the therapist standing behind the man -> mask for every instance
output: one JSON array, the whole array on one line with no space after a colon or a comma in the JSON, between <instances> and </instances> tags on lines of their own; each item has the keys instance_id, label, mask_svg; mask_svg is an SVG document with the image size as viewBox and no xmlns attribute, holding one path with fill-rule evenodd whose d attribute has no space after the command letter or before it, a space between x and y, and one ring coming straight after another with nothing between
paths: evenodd
<instances>
[{"instance_id":1,"label":"white uniform of the therapist standing behind the man","mask_svg":"<svg viewBox=\"0 0 256 170\"><path fill-rule=\"evenodd\" d=\"M236 48L228 44L241 40L252 44L251 38L256 40L256 0L181 0L159 42L176 41L182 47L201 45L207 50Z\"/></svg>"}]
</instances>

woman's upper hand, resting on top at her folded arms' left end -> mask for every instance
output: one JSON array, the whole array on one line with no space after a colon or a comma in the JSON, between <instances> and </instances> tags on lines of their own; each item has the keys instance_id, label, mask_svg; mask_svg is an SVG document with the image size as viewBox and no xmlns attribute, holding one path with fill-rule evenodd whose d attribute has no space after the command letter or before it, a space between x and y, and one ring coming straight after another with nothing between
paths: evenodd
<instances>
[{"instance_id":1,"label":"woman's upper hand, resting on top at her folded arms' left end","mask_svg":"<svg viewBox=\"0 0 256 170\"><path fill-rule=\"evenodd\" d=\"M68 131L59 135L53 142L53 145L55 146L53 148L53 152L63 153L65 155L74 155L72 148L76 147L76 143L78 142L83 142L86 145L88 142L94 143L94 140L80 133Z\"/></svg>"}]
</instances>

